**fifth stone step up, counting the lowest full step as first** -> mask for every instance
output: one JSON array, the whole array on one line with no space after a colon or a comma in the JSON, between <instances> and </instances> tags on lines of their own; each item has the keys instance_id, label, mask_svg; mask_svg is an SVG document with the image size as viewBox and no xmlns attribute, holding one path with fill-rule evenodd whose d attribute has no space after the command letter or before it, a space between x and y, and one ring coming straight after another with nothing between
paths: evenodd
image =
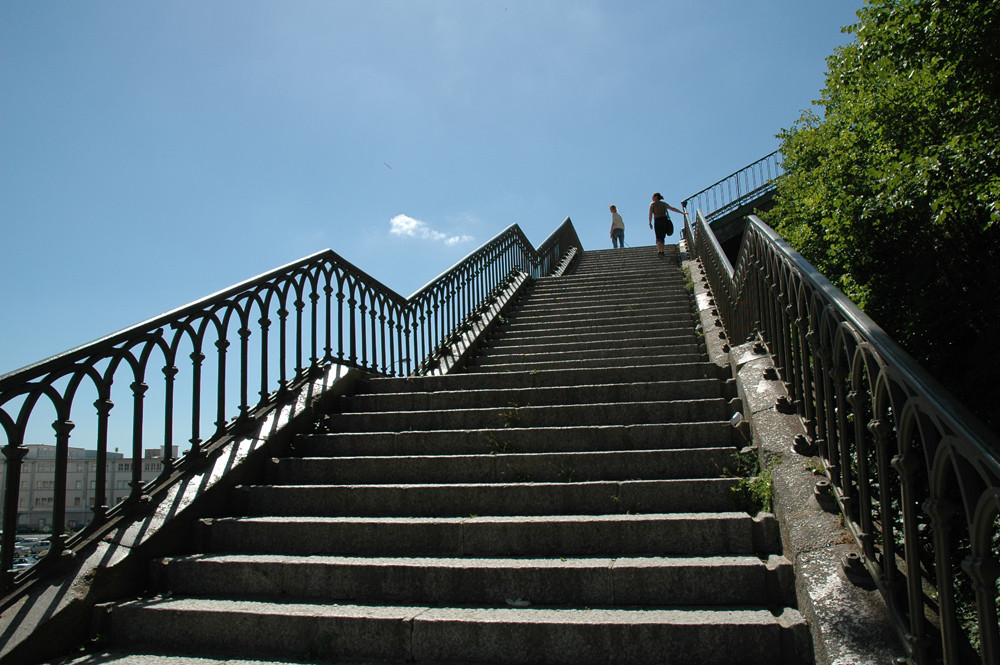
<instances>
[{"instance_id":1,"label":"fifth stone step up, counting the lowest full step as first","mask_svg":"<svg viewBox=\"0 0 1000 665\"><path fill-rule=\"evenodd\" d=\"M320 483L584 482L718 477L734 468L735 448L629 450L520 455L284 457L270 463L273 485Z\"/></svg>"}]
</instances>

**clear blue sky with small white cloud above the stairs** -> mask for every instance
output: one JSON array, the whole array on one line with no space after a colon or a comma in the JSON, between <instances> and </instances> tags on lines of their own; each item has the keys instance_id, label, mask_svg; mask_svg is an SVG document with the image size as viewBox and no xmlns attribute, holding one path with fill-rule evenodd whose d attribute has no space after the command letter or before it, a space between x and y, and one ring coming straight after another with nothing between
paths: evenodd
<instances>
[{"instance_id":1,"label":"clear blue sky with small white cloud above the stairs","mask_svg":"<svg viewBox=\"0 0 1000 665\"><path fill-rule=\"evenodd\" d=\"M409 295L514 222L652 244L861 5L0 0L0 373L327 247Z\"/></svg>"}]
</instances>

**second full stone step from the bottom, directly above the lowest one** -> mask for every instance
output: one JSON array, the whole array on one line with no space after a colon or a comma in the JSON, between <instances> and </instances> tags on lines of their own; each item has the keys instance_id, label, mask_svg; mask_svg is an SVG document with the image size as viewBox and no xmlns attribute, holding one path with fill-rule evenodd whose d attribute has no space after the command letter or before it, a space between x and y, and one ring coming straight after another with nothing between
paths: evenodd
<instances>
[{"instance_id":1,"label":"second full stone step from the bottom, directly above the lowest one","mask_svg":"<svg viewBox=\"0 0 1000 665\"><path fill-rule=\"evenodd\" d=\"M438 558L210 554L153 563L157 588L323 602L753 605L794 602L782 556ZM791 592L791 593L790 593Z\"/></svg>"}]
</instances>

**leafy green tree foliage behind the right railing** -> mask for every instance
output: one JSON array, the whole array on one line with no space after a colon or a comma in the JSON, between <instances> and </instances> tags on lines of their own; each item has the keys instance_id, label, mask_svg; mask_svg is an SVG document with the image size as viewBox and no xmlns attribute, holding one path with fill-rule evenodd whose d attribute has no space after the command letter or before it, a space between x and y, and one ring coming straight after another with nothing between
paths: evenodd
<instances>
[{"instance_id":1,"label":"leafy green tree foliage behind the right railing","mask_svg":"<svg viewBox=\"0 0 1000 665\"><path fill-rule=\"evenodd\" d=\"M767 221L994 428L1000 2L867 0Z\"/></svg>"}]
</instances>

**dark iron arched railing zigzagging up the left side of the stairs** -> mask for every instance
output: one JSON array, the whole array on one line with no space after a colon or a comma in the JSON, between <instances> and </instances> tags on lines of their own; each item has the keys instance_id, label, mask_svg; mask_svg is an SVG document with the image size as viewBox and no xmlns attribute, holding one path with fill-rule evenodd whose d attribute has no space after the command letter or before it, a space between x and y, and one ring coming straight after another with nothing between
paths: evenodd
<instances>
[{"instance_id":1,"label":"dark iron arched railing zigzagging up the left side of the stairs","mask_svg":"<svg viewBox=\"0 0 1000 665\"><path fill-rule=\"evenodd\" d=\"M549 274L572 248L580 249L580 240L568 218L537 250L512 225L410 298L326 250L0 376L0 432L7 462L0 591L31 574L15 574L11 567L26 437L29 431L44 431L37 427L39 419L54 415L54 434L48 435L55 445L52 537L45 557L51 560L163 487L176 470L195 463L215 442L252 422L324 366L335 363L387 375L421 373L463 322L488 307L511 279ZM234 342L235 363L230 359ZM119 417L112 397L120 386L126 387L128 406ZM158 399L151 410L154 393ZM154 438L149 436L152 414L162 414L162 421L156 418L162 430L154 436L163 446L163 471L144 483L141 461L146 440ZM92 419L84 444L96 450L90 492L95 501L89 528L68 537L67 467L74 418ZM175 458L182 422L189 423L185 433L191 447ZM105 468L110 433L118 431L130 438L131 457L124 459L131 461L131 491L122 504L109 507Z\"/></svg>"}]
</instances>

